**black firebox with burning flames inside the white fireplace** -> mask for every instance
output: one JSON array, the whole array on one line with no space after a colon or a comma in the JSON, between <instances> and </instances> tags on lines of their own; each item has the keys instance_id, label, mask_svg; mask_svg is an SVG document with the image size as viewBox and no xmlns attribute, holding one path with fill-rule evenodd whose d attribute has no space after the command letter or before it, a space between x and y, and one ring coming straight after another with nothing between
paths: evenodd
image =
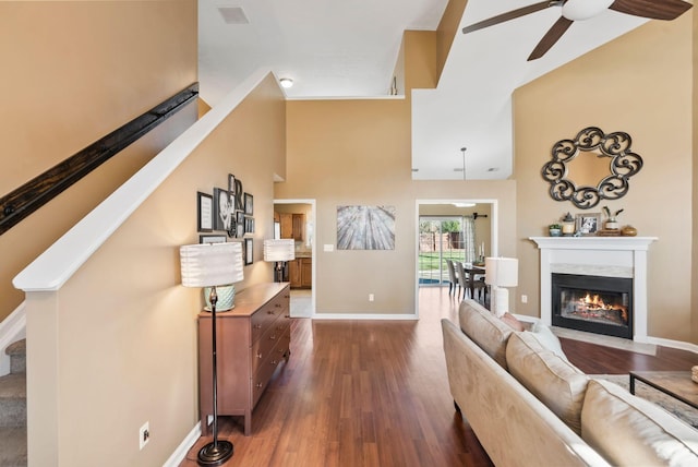
<instances>
[{"instance_id":1,"label":"black firebox with burning flames inside the white fireplace","mask_svg":"<svg viewBox=\"0 0 698 467\"><path fill-rule=\"evenodd\" d=\"M552 274L552 324L633 338L633 279Z\"/></svg>"}]
</instances>

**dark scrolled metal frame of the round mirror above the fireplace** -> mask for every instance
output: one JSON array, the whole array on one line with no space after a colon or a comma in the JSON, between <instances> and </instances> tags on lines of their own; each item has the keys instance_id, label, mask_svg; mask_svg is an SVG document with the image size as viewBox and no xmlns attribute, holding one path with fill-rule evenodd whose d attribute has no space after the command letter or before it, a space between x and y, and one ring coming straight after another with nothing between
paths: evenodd
<instances>
[{"instance_id":1,"label":"dark scrolled metal frame of the round mirror above the fireplace","mask_svg":"<svg viewBox=\"0 0 698 467\"><path fill-rule=\"evenodd\" d=\"M624 132L604 134L597 127L581 130L574 140L555 143L553 159L543 166L543 178L550 182L555 201L571 201L581 209L590 209L601 200L617 200L628 192L628 179L642 168L642 158L630 152L633 140ZM600 151L599 157L611 157L611 173L597 187L577 187L567 177L567 165L580 152Z\"/></svg>"}]
</instances>

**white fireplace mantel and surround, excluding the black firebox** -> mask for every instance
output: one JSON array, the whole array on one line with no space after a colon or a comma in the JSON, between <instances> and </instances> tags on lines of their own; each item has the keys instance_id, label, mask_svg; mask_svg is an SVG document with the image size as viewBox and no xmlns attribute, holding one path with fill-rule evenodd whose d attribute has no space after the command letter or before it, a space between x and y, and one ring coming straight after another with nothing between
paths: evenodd
<instances>
[{"instance_id":1,"label":"white fireplace mantel and surround, excluding the black firebox","mask_svg":"<svg viewBox=\"0 0 698 467\"><path fill-rule=\"evenodd\" d=\"M552 323L552 274L633 278L633 340L647 343L647 250L657 237L530 237L540 250L541 321Z\"/></svg>"}]
</instances>

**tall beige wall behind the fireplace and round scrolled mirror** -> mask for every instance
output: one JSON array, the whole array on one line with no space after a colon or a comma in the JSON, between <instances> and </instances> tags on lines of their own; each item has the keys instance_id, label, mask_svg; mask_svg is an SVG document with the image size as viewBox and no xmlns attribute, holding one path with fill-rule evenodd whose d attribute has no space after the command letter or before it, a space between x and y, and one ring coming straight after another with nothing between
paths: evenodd
<instances>
[{"instance_id":1,"label":"tall beige wall behind the fireplace and round scrolled mirror","mask_svg":"<svg viewBox=\"0 0 698 467\"><path fill-rule=\"evenodd\" d=\"M515 173L521 274L518 294L529 297L517 310L538 315L539 252L530 236L568 211L555 202L541 168L552 145L595 125L625 131L645 161L630 179L628 194L602 201L588 212L625 208L621 224L640 236L658 237L649 250L650 336L698 342L691 334L693 19L650 22L580 59L518 89L515 94Z\"/></svg>"}]
</instances>

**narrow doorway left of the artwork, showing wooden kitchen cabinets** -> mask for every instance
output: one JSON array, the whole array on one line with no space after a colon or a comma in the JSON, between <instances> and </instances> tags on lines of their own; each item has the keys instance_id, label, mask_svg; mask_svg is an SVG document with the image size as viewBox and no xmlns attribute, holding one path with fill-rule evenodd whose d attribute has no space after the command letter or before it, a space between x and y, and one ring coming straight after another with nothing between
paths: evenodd
<instances>
[{"instance_id":1,"label":"narrow doorway left of the artwork, showing wooden kitchen cabinets","mask_svg":"<svg viewBox=\"0 0 698 467\"><path fill-rule=\"evenodd\" d=\"M312 318L315 315L317 277L315 200L274 200L274 237L294 240L296 260L287 267L292 277L285 278L291 283L290 315Z\"/></svg>"}]
</instances>

